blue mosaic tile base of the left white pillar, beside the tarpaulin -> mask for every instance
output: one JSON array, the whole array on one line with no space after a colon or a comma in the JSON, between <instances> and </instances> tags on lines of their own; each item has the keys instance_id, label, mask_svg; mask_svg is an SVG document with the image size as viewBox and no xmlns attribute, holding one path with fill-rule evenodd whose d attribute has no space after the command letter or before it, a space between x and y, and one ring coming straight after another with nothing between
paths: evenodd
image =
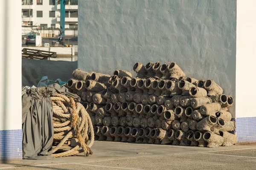
<instances>
[{"instance_id":1,"label":"blue mosaic tile base of the left white pillar, beside the tarpaulin","mask_svg":"<svg viewBox=\"0 0 256 170\"><path fill-rule=\"evenodd\" d=\"M0 130L0 159L22 159L22 129Z\"/></svg>"}]
</instances>

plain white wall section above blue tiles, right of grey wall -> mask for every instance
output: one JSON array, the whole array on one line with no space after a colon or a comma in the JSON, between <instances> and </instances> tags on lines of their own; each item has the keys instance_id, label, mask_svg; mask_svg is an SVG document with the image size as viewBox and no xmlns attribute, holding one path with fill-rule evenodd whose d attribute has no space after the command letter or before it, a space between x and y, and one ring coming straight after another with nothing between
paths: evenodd
<instances>
[{"instance_id":1,"label":"plain white wall section above blue tiles, right of grey wall","mask_svg":"<svg viewBox=\"0 0 256 170\"><path fill-rule=\"evenodd\" d=\"M256 1L237 0L236 117L255 117Z\"/></svg>"}]
</instances>

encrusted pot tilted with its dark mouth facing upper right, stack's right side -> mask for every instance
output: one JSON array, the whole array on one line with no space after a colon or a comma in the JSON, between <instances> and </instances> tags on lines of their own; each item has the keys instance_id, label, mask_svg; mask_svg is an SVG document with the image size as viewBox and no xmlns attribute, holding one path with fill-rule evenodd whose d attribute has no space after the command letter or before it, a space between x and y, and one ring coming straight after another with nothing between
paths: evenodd
<instances>
[{"instance_id":1,"label":"encrusted pot tilted with its dark mouth facing upper right, stack's right side","mask_svg":"<svg viewBox=\"0 0 256 170\"><path fill-rule=\"evenodd\" d=\"M211 131L211 127L217 123L215 116L207 116L196 124L196 128L201 132Z\"/></svg>"}]
</instances>

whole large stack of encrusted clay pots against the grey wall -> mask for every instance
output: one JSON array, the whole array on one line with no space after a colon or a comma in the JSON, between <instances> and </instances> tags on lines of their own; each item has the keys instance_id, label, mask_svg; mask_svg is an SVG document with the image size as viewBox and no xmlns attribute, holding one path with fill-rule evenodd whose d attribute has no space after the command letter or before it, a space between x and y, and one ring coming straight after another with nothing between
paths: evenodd
<instances>
[{"instance_id":1,"label":"whole large stack of encrusted clay pots against the grey wall","mask_svg":"<svg viewBox=\"0 0 256 170\"><path fill-rule=\"evenodd\" d=\"M233 97L212 79L194 79L175 63L137 62L136 77L76 69L67 82L81 96L96 140L219 147L236 143Z\"/></svg>"}]
</instances>

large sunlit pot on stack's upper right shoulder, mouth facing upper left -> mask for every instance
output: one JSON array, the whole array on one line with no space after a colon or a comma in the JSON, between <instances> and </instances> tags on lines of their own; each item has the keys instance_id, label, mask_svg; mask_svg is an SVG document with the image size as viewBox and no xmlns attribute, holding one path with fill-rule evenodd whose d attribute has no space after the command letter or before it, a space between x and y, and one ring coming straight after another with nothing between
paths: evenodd
<instances>
[{"instance_id":1,"label":"large sunlit pot on stack's upper right shoulder, mouth facing upper left","mask_svg":"<svg viewBox=\"0 0 256 170\"><path fill-rule=\"evenodd\" d=\"M204 88L208 91L207 96L215 96L223 93L223 89L212 79L207 79L204 82Z\"/></svg>"}]
</instances>

